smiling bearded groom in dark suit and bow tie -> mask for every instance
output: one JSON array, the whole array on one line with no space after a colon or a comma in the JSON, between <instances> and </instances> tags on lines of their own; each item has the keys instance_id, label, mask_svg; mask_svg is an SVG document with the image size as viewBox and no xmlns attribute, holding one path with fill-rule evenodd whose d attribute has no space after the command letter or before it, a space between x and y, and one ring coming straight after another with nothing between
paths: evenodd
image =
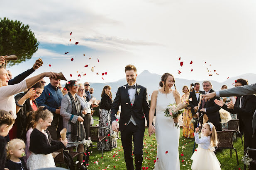
<instances>
[{"instance_id":1,"label":"smiling bearded groom in dark suit and bow tie","mask_svg":"<svg viewBox=\"0 0 256 170\"><path fill-rule=\"evenodd\" d=\"M149 101L145 87L136 84L137 69L134 65L125 67L127 83L117 90L111 108L112 130L121 132L121 141L124 148L124 159L127 170L134 170L132 158L132 139L134 143L134 156L136 170L141 170L143 161L143 138L145 131L145 118L149 127ZM121 105L119 129L116 114Z\"/></svg>"}]
</instances>

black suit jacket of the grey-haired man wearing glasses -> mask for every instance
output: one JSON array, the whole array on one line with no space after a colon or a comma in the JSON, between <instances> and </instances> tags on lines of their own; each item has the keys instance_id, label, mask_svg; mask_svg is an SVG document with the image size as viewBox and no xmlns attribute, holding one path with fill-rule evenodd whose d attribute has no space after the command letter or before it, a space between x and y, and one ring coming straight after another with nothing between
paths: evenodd
<instances>
[{"instance_id":1,"label":"black suit jacket of the grey-haired man wearing glasses","mask_svg":"<svg viewBox=\"0 0 256 170\"><path fill-rule=\"evenodd\" d=\"M210 90L209 93L212 93L214 92L214 90ZM205 94L205 91L203 91L202 94ZM205 109L206 109L206 115L207 117L209 118L208 122L212 122L212 124L215 126L215 128L217 128L217 130L221 130L219 129L219 122L220 122L220 116L219 116L219 110L220 110L220 106L215 104L214 100L217 99L219 100L219 97L214 97L212 99L210 99L210 101L207 101L205 103ZM202 103L203 101L201 102L200 104L200 107L199 107L199 111L202 109Z\"/></svg>"}]
</instances>

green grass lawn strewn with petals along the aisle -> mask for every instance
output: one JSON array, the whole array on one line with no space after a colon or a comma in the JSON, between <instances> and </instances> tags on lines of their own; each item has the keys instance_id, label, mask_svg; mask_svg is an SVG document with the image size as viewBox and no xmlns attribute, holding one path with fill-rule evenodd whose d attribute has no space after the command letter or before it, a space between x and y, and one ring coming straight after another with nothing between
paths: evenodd
<instances>
[{"instance_id":1,"label":"green grass lawn strewn with petals along the aisle","mask_svg":"<svg viewBox=\"0 0 256 170\"><path fill-rule=\"evenodd\" d=\"M93 117L98 119L98 117ZM94 121L95 124L98 122ZM120 136L120 133L119 133ZM97 145L97 143L94 143ZM182 129L180 129L180 141L179 141L179 154L183 153L184 156L180 155L180 170L190 170L194 145L194 139L187 139L182 136ZM196 145L197 146L197 145ZM217 152L217 158L221 163L222 170L238 170L243 169L243 163L241 162L241 157L243 156L243 146L241 144L241 138L238 137L237 141L234 141L234 148L238 152L239 166L236 164L236 155L234 150L232 151L232 158L230 158L230 150L224 149L221 152ZM91 151L91 148L90 148ZM149 167L148 170L154 169L154 160L156 160L157 144L155 135L149 137L147 129L145 129L144 134L144 149L143 149L143 164L142 167ZM184 160L184 161L183 161ZM203 160L202 160L203 161ZM96 163L98 162L98 164ZM101 157L101 151L97 150L97 147L93 147L92 153L90 153L88 169L90 170L104 170L104 169L117 169L125 170L125 160L124 153L121 144L121 139L117 140L117 148L112 151L104 151L103 158ZM134 165L135 166L135 165ZM115 168L114 168L115 167Z\"/></svg>"}]
</instances>

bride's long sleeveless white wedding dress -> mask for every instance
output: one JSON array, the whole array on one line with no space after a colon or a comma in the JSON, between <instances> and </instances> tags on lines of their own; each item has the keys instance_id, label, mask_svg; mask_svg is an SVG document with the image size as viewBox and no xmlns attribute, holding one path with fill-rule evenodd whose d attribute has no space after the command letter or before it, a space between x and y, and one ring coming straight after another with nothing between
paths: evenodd
<instances>
[{"instance_id":1,"label":"bride's long sleeveless white wedding dress","mask_svg":"<svg viewBox=\"0 0 256 170\"><path fill-rule=\"evenodd\" d=\"M173 127L173 120L164 116L169 104L176 103L173 91L161 93L158 91L156 99L156 141L157 155L154 170L179 170L179 138L180 129Z\"/></svg>"}]
</instances>

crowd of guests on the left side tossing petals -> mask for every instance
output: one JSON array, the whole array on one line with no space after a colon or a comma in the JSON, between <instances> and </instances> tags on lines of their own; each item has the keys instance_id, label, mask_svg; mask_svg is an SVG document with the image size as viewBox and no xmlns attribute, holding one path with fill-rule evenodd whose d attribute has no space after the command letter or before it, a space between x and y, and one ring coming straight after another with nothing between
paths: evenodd
<instances>
[{"instance_id":1,"label":"crowd of guests on the left side tossing petals","mask_svg":"<svg viewBox=\"0 0 256 170\"><path fill-rule=\"evenodd\" d=\"M0 57L5 64L5 56ZM61 86L59 74L44 72L26 79L41 67L38 60L31 69L12 78L12 73L0 65L0 169L7 168L34 170L55 167L51 153L61 148L73 151L77 146L77 169L85 170L89 154L84 148L83 139L90 137L92 110L100 104L99 126L110 127L110 108L112 106L111 87L105 86L101 101L93 97L94 89L90 83L78 84L76 80L67 81ZM46 85L45 77L50 83ZM67 129L66 139L60 132ZM112 130L102 130L109 136L98 149L110 150L117 147ZM68 143L70 142L70 143ZM86 149L86 151L85 151ZM7 153L7 154L6 154ZM6 159L7 158L7 159ZM40 160L40 161L39 161Z\"/></svg>"}]
</instances>

